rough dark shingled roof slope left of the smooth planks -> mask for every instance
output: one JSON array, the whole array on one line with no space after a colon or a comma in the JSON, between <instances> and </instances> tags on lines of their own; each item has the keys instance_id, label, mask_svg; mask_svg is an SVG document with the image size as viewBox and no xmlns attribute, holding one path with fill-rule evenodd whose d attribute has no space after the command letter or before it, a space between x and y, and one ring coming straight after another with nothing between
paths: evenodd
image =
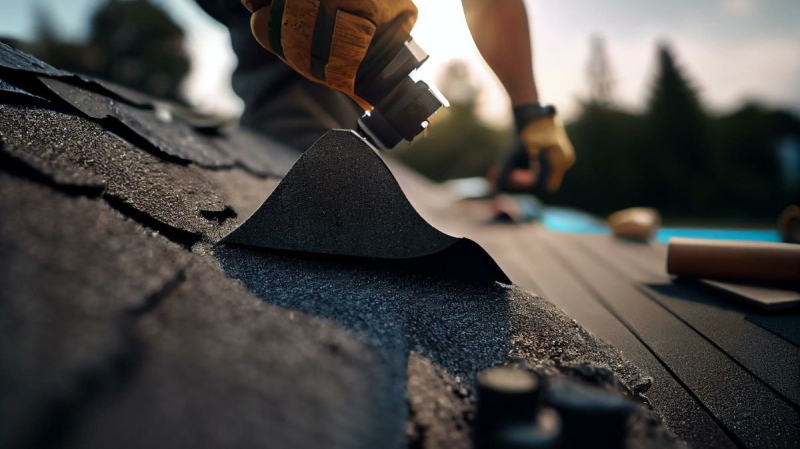
<instances>
[{"instance_id":1,"label":"rough dark shingled roof slope left of the smooth planks","mask_svg":"<svg viewBox=\"0 0 800 449\"><path fill-rule=\"evenodd\" d=\"M373 237L372 258L219 243L296 154L7 46L0 80L39 97L0 96L0 447L459 447L475 374L509 355L646 403L618 351L407 203L309 231L424 228ZM366 156L347 154L323 160ZM404 201L385 167L366 175L340 194ZM400 245L417 257L377 257ZM631 446L678 444L638 410Z\"/></svg>"}]
</instances>

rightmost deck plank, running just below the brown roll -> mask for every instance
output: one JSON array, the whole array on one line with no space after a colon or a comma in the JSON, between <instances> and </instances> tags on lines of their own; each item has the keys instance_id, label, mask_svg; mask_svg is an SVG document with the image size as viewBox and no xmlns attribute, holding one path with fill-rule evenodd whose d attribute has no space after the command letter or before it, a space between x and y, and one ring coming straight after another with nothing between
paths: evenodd
<instances>
[{"instance_id":1,"label":"rightmost deck plank, running just below the brown roll","mask_svg":"<svg viewBox=\"0 0 800 449\"><path fill-rule=\"evenodd\" d=\"M600 237L600 236L598 236ZM611 238L582 239L595 257L623 277L646 285L645 293L720 350L756 375L784 399L800 405L800 348L746 320L749 311L730 301L670 281L664 257L647 245ZM710 289L709 289L710 290Z\"/></svg>"}]
</instances>

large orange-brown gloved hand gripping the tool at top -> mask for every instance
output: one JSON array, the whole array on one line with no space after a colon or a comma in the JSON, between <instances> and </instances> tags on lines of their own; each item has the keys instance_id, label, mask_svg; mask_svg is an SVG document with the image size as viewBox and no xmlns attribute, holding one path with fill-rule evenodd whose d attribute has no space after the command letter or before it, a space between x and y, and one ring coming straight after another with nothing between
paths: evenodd
<instances>
[{"instance_id":1,"label":"large orange-brown gloved hand gripping the tool at top","mask_svg":"<svg viewBox=\"0 0 800 449\"><path fill-rule=\"evenodd\" d=\"M344 92L365 110L360 89L388 64L417 19L411 0L242 0L253 35L306 78Z\"/></svg>"}]
</instances>

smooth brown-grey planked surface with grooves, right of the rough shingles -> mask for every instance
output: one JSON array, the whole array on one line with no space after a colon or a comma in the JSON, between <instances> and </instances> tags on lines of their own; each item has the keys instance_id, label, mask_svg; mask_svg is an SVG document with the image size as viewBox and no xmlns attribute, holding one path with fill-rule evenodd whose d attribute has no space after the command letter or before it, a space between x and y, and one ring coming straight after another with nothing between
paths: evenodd
<instances>
[{"instance_id":1,"label":"smooth brown-grey planked surface with grooves, right of the rough shingles","mask_svg":"<svg viewBox=\"0 0 800 449\"><path fill-rule=\"evenodd\" d=\"M646 393L693 447L800 447L800 314L763 314L723 293L678 284L666 247L541 225L488 224L396 173L440 229L480 243L511 280L541 294L652 376Z\"/></svg>"}]
</instances>

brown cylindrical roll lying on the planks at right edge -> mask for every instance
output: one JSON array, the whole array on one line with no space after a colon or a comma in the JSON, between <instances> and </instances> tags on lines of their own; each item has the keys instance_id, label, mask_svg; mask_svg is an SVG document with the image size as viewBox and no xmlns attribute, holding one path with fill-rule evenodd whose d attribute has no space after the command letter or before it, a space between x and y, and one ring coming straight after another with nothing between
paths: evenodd
<instances>
[{"instance_id":1,"label":"brown cylindrical roll lying on the planks at right edge","mask_svg":"<svg viewBox=\"0 0 800 449\"><path fill-rule=\"evenodd\" d=\"M696 278L800 283L800 245L672 238L667 272Z\"/></svg>"}]
</instances>

